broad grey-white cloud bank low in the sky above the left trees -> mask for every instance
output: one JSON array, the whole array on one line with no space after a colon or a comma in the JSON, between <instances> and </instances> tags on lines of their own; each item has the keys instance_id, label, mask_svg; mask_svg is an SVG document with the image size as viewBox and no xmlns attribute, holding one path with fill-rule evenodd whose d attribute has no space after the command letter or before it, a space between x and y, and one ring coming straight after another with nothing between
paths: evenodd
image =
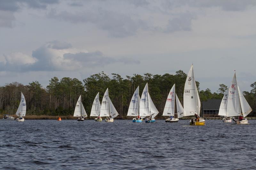
<instances>
[{"instance_id":1,"label":"broad grey-white cloud bank low in the sky above the left trees","mask_svg":"<svg viewBox=\"0 0 256 170\"><path fill-rule=\"evenodd\" d=\"M74 71L84 67L107 66L112 63L139 64L129 58L115 59L102 52L87 52L71 48L71 44L49 41L32 52L32 56L13 53L1 56L1 71Z\"/></svg>"}]
</instances>

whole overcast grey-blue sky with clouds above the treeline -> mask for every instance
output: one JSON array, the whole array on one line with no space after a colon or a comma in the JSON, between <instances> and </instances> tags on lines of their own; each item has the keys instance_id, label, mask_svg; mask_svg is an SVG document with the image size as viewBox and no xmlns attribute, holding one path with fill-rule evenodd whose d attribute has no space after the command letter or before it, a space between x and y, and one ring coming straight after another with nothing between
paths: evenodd
<instances>
[{"instance_id":1,"label":"whole overcast grey-blue sky with clouds above the treeline","mask_svg":"<svg viewBox=\"0 0 256 170\"><path fill-rule=\"evenodd\" d=\"M0 85L188 73L200 90L256 81L256 1L0 0ZM171 88L172 85L170 85Z\"/></svg>"}]
</instances>

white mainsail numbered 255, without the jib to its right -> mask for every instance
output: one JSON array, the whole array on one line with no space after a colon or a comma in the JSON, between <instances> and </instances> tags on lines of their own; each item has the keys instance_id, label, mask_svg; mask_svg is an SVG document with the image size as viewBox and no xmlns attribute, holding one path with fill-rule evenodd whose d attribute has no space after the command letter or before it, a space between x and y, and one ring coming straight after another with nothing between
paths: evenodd
<instances>
[{"instance_id":1,"label":"white mainsail numbered 255, without the jib to its right","mask_svg":"<svg viewBox=\"0 0 256 170\"><path fill-rule=\"evenodd\" d=\"M148 104L148 83L145 85L140 99L140 116L149 116L149 104Z\"/></svg>"}]
</instances>

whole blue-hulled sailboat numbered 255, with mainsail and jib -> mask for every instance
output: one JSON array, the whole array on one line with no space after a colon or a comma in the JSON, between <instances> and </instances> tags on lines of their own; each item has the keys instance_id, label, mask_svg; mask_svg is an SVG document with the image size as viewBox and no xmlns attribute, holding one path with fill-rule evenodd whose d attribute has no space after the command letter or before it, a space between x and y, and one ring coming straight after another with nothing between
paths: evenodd
<instances>
[{"instance_id":1,"label":"whole blue-hulled sailboat numbered 255, with mainsail and jib","mask_svg":"<svg viewBox=\"0 0 256 170\"><path fill-rule=\"evenodd\" d=\"M149 118L146 118L146 123L156 122L155 118L158 114L158 110L156 109L156 106L154 105L149 92L148 92L148 83L145 85L141 99L140 99L140 116L149 116Z\"/></svg>"}]
</instances>

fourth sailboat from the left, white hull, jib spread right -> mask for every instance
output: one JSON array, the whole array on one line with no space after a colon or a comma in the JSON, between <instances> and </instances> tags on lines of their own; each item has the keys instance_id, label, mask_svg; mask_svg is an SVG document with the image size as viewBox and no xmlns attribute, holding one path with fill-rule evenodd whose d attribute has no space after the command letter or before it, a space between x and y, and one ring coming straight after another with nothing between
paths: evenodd
<instances>
[{"instance_id":1,"label":"fourth sailboat from the left, white hull, jib spread right","mask_svg":"<svg viewBox=\"0 0 256 170\"><path fill-rule=\"evenodd\" d=\"M116 116L118 116L118 112L116 111L116 108L114 107L112 101L109 98L108 95L108 88L106 92L104 93L104 97L101 102L101 108L100 108L100 116L107 118L105 119L105 122L114 122L114 119Z\"/></svg>"}]
</instances>

